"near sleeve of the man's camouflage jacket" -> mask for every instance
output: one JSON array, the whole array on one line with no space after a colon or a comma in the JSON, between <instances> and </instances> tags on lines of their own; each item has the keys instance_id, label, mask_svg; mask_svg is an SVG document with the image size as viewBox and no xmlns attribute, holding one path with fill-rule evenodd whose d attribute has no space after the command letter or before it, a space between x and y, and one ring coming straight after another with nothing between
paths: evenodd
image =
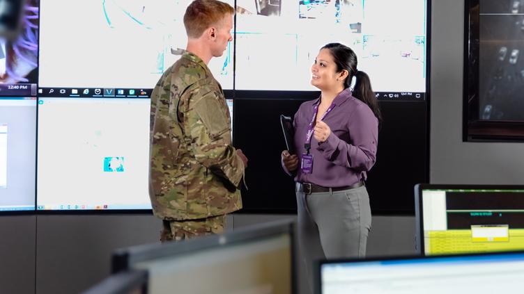
<instances>
[{"instance_id":1,"label":"near sleeve of the man's camouflage jacket","mask_svg":"<svg viewBox=\"0 0 524 294\"><path fill-rule=\"evenodd\" d=\"M231 130L223 97L206 86L187 90L191 95L184 117L185 133L192 151L202 165L238 187L244 174L244 163L231 145Z\"/></svg>"}]
</instances>

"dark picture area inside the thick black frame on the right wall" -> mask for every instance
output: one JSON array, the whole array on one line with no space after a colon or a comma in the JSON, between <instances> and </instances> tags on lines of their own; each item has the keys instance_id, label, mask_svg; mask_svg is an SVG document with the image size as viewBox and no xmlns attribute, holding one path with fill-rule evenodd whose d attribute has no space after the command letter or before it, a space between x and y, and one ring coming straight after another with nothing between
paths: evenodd
<instances>
[{"instance_id":1,"label":"dark picture area inside the thick black frame on the right wall","mask_svg":"<svg viewBox=\"0 0 524 294\"><path fill-rule=\"evenodd\" d=\"M524 121L524 2L479 1L479 118Z\"/></svg>"}]
</instances>

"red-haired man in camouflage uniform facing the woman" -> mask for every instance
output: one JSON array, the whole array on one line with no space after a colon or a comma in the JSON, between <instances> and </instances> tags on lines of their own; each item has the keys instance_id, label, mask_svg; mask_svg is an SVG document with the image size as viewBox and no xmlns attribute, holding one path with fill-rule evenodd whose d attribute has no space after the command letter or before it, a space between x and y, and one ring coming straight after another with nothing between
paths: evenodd
<instances>
[{"instance_id":1,"label":"red-haired man in camouflage uniform facing the woman","mask_svg":"<svg viewBox=\"0 0 524 294\"><path fill-rule=\"evenodd\" d=\"M247 158L231 145L224 92L207 66L232 40L233 13L220 1L192 2L187 49L151 95L149 195L162 242L219 234L226 213L242 208Z\"/></svg>"}]
</instances>

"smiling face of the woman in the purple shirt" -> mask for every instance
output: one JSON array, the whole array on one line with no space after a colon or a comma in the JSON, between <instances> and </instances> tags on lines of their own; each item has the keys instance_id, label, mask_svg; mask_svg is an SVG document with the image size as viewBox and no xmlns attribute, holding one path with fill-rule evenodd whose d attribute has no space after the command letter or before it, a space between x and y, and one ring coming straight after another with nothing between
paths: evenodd
<instances>
[{"instance_id":1,"label":"smiling face of the woman in the purple shirt","mask_svg":"<svg viewBox=\"0 0 524 294\"><path fill-rule=\"evenodd\" d=\"M337 81L337 78L340 79L340 73L337 72L330 49L321 49L311 66L311 85L320 90L335 89L339 85L344 87L344 81Z\"/></svg>"}]
</instances>

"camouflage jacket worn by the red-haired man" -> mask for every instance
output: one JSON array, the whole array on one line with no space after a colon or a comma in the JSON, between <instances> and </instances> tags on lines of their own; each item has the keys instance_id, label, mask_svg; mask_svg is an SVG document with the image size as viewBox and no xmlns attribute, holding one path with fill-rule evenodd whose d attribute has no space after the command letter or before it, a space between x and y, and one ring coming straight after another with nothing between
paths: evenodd
<instances>
[{"instance_id":1,"label":"camouflage jacket worn by the red-haired man","mask_svg":"<svg viewBox=\"0 0 524 294\"><path fill-rule=\"evenodd\" d=\"M220 84L184 51L151 95L149 195L164 220L191 220L242 208L244 163L231 145Z\"/></svg>"}]
</instances>

